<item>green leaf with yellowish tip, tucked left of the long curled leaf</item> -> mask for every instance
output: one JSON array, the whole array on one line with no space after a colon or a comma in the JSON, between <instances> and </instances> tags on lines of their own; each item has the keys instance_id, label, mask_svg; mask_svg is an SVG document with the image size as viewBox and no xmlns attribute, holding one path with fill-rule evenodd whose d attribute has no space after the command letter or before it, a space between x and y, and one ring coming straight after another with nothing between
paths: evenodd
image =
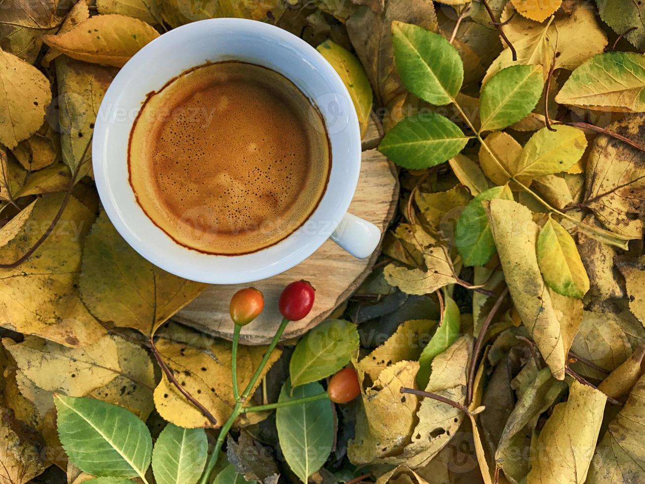
<instances>
[{"instance_id":1,"label":"green leaf with yellowish tip, tucked left of the long curled leaf","mask_svg":"<svg viewBox=\"0 0 645 484\"><path fill-rule=\"evenodd\" d=\"M455 226L455 245L465 266L484 265L495 254L495 241L490 231L482 200L513 199L508 185L488 188L473 198L461 212Z\"/></svg>"}]
</instances>

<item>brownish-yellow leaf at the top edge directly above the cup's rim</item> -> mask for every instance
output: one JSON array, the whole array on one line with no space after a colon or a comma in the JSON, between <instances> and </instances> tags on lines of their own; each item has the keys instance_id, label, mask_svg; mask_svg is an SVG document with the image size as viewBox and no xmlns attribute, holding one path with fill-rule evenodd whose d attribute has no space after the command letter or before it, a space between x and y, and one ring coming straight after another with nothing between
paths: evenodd
<instances>
[{"instance_id":1,"label":"brownish-yellow leaf at the top edge directly above the cup's rim","mask_svg":"<svg viewBox=\"0 0 645 484\"><path fill-rule=\"evenodd\" d=\"M164 0L161 5L163 19L173 28L217 17L237 17L275 23L283 12L284 3L278 0Z\"/></svg>"}]
</instances>

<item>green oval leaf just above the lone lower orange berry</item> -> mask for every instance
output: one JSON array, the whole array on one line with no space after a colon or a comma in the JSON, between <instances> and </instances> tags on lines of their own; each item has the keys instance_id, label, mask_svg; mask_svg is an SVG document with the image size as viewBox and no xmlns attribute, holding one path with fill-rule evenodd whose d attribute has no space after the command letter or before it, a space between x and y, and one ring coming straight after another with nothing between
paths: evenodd
<instances>
[{"instance_id":1,"label":"green oval leaf just above the lone lower orange berry","mask_svg":"<svg viewBox=\"0 0 645 484\"><path fill-rule=\"evenodd\" d=\"M359 349L356 325L329 319L298 342L289 363L293 387L333 375L349 363Z\"/></svg>"}]
</instances>

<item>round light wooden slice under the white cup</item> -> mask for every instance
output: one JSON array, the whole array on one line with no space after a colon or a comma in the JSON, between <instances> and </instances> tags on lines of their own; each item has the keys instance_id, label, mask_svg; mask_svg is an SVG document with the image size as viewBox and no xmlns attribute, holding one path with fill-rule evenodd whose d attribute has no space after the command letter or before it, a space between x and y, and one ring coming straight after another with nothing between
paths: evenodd
<instances>
[{"instance_id":1,"label":"round light wooden slice under the white cup","mask_svg":"<svg viewBox=\"0 0 645 484\"><path fill-rule=\"evenodd\" d=\"M371 123L363 139L364 148L378 144L381 130ZM393 165L375 149L363 152L361 177L354 194L350 212L375 223L384 233L399 199L399 180ZM380 247L368 259L360 260L328 240L306 261L269 279L253 283L264 294L264 312L241 333L240 341L246 345L264 345L275 334L281 316L277 301L288 283L298 279L310 281L316 289L316 299L310 315L293 321L284 332L283 339L300 336L323 321L332 310L361 284L372 270ZM208 334L232 339L233 323L228 315L231 296L244 285L213 285L186 306L173 319Z\"/></svg>"}]
</instances>

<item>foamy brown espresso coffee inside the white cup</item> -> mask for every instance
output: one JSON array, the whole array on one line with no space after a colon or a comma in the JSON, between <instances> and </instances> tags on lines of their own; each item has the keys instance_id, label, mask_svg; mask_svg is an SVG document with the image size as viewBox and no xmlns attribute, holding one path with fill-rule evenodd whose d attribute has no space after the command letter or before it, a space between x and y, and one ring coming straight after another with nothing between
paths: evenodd
<instances>
[{"instance_id":1,"label":"foamy brown espresso coffee inside the white cup","mask_svg":"<svg viewBox=\"0 0 645 484\"><path fill-rule=\"evenodd\" d=\"M150 93L128 148L144 212L208 254L255 252L292 234L323 197L331 163L323 118L299 88L237 61Z\"/></svg>"}]
</instances>

